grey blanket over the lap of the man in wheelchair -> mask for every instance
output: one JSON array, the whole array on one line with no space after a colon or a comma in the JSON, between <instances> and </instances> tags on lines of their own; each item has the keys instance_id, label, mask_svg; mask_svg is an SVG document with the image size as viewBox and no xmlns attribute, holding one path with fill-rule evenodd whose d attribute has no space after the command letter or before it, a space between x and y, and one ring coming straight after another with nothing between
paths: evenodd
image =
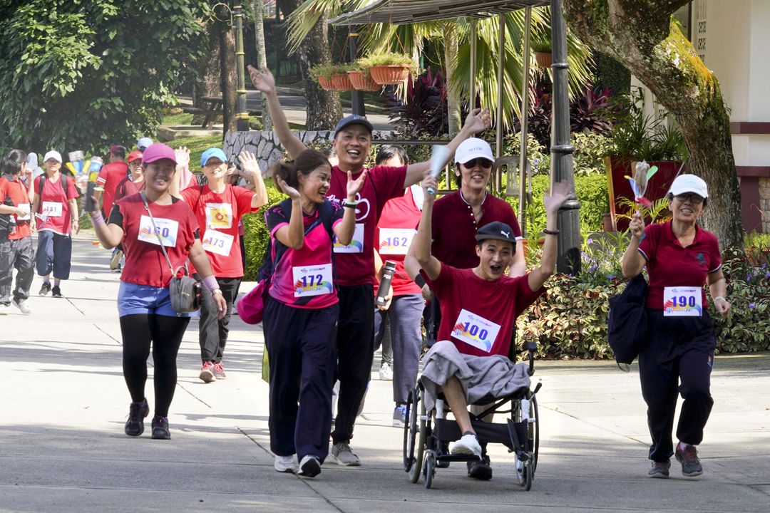
<instances>
[{"instance_id":1,"label":"grey blanket over the lap of the man in wheelchair","mask_svg":"<svg viewBox=\"0 0 770 513\"><path fill-rule=\"evenodd\" d=\"M420 378L425 387L427 411L436 405L438 388L453 375L463 385L469 405L487 394L500 398L530 385L527 364L514 364L500 355L463 355L450 341L436 342L423 358Z\"/></svg>"}]
</instances>

